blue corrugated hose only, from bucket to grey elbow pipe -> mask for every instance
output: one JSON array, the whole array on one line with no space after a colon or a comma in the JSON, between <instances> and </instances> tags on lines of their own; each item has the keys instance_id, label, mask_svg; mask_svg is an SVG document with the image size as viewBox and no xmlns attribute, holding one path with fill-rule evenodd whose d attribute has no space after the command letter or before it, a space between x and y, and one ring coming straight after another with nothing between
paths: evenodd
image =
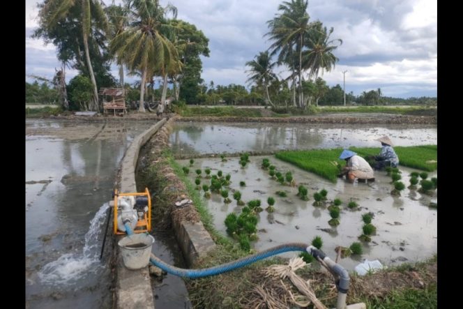
<instances>
[{"instance_id":1,"label":"blue corrugated hose only, from bucket to grey elbow pipe","mask_svg":"<svg viewBox=\"0 0 463 309\"><path fill-rule=\"evenodd\" d=\"M124 225L126 227L126 232L128 235L132 234L132 229L128 224ZM227 271L233 271L234 269L241 268L243 266L247 266L254 262L257 262L261 259L266 259L267 257L271 257L272 255L279 255L280 253L290 252L290 251L303 251L307 252L307 247L309 245L307 243L285 243L284 245L275 246L273 248L269 248L264 250L260 253L256 253L254 255L250 255L248 257L243 257L241 259L237 259L233 262L228 262L226 264L222 264L219 266L213 266L208 269L179 269L175 266L166 264L162 260L158 259L154 255L151 255L149 259L151 264L154 266L158 266L163 271L167 273L171 273L172 275L179 276L179 277L186 277L186 278L203 278L208 276L215 276L219 275L220 273L226 273Z\"/></svg>"}]
</instances>

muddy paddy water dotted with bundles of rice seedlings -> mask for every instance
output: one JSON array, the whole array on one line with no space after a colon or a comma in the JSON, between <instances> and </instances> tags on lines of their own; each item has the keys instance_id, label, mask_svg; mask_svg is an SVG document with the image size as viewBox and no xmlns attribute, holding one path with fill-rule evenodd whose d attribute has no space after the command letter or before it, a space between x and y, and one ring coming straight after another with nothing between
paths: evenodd
<instances>
[{"instance_id":1,"label":"muddy paddy water dotted with bundles of rice seedlings","mask_svg":"<svg viewBox=\"0 0 463 309\"><path fill-rule=\"evenodd\" d=\"M262 158L270 158L271 164L283 174L292 172L297 184L308 187L310 200L305 202L296 196L297 186L282 186L270 179L268 172L260 167ZM234 190L240 190L245 202L261 199L263 209L268 206L267 197L275 198L274 213L269 214L265 210L259 213L259 240L253 243L257 250L294 241L310 243L314 236L319 235L324 241L322 250L334 259L336 246L348 247L354 241L358 241L357 237L362 234L361 215L372 212L372 224L377 227L377 234L372 236L371 243L363 244L361 257L347 257L341 260L341 264L347 269L354 269L363 259L379 259L383 264L393 265L423 260L437 253L437 210L428 207L430 202L437 202L437 197L421 195L416 190L407 188L402 191L400 197L393 197L390 195L393 189L390 176L386 176L386 172L375 172L374 183L352 184L342 179L338 179L337 183L331 183L272 156L255 156L250 160L251 163L241 169L238 158L230 158L225 163L215 158L195 159L194 166L190 167L190 178L194 181L194 171L197 168L204 170L209 167L212 169L211 174L216 174L220 169L224 175L232 176L229 190L231 198ZM187 160L179 160L179 163L189 165ZM400 167L400 170L402 182L409 186L409 174L413 169ZM436 173L430 173L429 177L432 176L436 176ZM240 188L239 181L245 181L246 187ZM210 181L202 179L202 183L209 184ZM340 198L343 201L340 225L334 228L328 225L328 220L331 219L328 209L312 206L313 193L323 188L328 190L328 200ZM286 191L288 196L275 195L275 191L278 190ZM201 191L201 195L203 194ZM232 211L239 213L243 206L237 206L236 201L225 204L223 198L216 193L213 193L211 199L204 200L213 214L215 227L226 235L225 217ZM350 200L359 204L358 210L351 211L347 208ZM287 253L284 256L293 255Z\"/></svg>"}]
</instances>

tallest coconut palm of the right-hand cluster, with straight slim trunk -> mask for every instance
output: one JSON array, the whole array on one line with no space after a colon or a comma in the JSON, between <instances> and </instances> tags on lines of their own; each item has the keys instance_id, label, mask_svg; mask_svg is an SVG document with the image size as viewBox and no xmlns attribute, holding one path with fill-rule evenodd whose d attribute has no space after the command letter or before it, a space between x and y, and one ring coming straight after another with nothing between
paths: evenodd
<instances>
[{"instance_id":1,"label":"tallest coconut palm of the right-hand cluster, with straight slim trunk","mask_svg":"<svg viewBox=\"0 0 463 309\"><path fill-rule=\"evenodd\" d=\"M305 45L304 38L310 31L309 19L307 13L308 0L291 0L284 1L278 10L281 11L273 20L267 22L270 32L266 35L270 36L273 44L269 50L274 52L282 51L284 47L295 46L298 59L298 77L299 77L299 106L303 105L302 91L302 53Z\"/></svg>"}]
</instances>

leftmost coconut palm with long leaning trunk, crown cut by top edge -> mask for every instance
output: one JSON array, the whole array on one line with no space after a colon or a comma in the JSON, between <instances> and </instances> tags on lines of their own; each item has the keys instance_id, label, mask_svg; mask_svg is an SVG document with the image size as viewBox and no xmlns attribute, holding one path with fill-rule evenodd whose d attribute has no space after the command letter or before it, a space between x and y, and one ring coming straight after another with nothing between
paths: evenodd
<instances>
[{"instance_id":1,"label":"leftmost coconut palm with long leaning trunk, crown cut by top edge","mask_svg":"<svg viewBox=\"0 0 463 309\"><path fill-rule=\"evenodd\" d=\"M38 13L40 26L44 29L54 29L54 27L60 27L59 22L65 20L71 10L79 10L86 65L89 68L90 79L93 84L94 102L90 106L90 110L98 110L99 107L98 88L89 54L89 34L92 20L96 21L98 27L107 30L107 18L103 6L104 4L98 0L45 0Z\"/></svg>"}]
</instances>

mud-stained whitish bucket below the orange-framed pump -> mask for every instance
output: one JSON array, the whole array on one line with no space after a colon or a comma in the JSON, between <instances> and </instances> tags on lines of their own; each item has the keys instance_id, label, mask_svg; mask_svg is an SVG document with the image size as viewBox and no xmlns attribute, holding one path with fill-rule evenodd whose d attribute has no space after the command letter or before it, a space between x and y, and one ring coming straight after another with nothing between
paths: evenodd
<instances>
[{"instance_id":1,"label":"mud-stained whitish bucket below the orange-framed pump","mask_svg":"<svg viewBox=\"0 0 463 309\"><path fill-rule=\"evenodd\" d=\"M132 234L119 241L124 265L128 269L142 269L149 264L154 237L147 233Z\"/></svg>"}]
</instances>

